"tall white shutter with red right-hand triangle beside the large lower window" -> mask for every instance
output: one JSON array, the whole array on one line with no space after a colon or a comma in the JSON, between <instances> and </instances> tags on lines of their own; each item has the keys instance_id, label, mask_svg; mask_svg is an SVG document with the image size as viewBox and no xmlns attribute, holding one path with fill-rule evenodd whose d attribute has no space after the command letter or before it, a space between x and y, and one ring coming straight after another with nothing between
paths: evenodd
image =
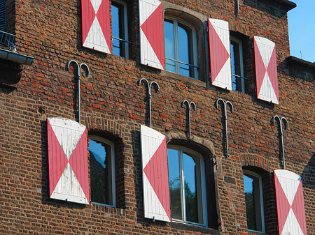
<instances>
[{"instance_id":1,"label":"tall white shutter with red right-hand triangle beside the large lower window","mask_svg":"<svg viewBox=\"0 0 315 235\"><path fill-rule=\"evenodd\" d=\"M171 221L165 135L141 126L144 217Z\"/></svg>"}]
</instances>

